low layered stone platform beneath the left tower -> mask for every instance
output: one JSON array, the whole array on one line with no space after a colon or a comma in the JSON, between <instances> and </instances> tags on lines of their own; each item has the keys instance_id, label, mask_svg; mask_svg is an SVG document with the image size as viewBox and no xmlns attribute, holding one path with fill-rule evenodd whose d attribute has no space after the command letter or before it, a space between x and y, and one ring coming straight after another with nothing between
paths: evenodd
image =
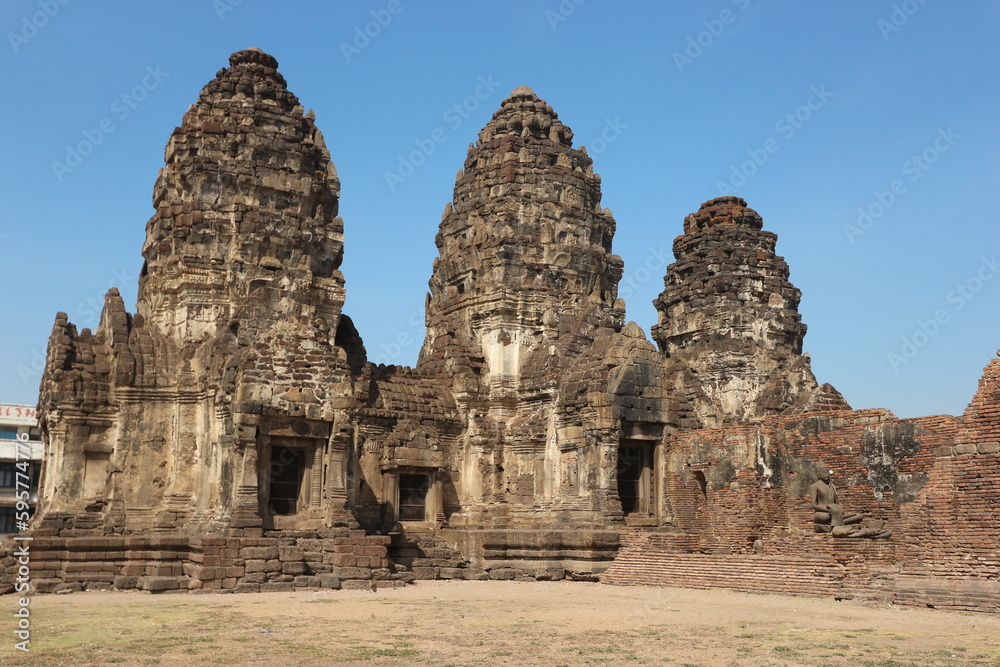
<instances>
[{"instance_id":1,"label":"low layered stone platform beneath the left tower","mask_svg":"<svg viewBox=\"0 0 1000 667\"><path fill-rule=\"evenodd\" d=\"M390 538L361 530L282 537L36 537L29 542L32 590L276 592L368 588L413 581L391 566ZM10 592L17 577L13 549L0 552Z\"/></svg>"}]
</instances>

